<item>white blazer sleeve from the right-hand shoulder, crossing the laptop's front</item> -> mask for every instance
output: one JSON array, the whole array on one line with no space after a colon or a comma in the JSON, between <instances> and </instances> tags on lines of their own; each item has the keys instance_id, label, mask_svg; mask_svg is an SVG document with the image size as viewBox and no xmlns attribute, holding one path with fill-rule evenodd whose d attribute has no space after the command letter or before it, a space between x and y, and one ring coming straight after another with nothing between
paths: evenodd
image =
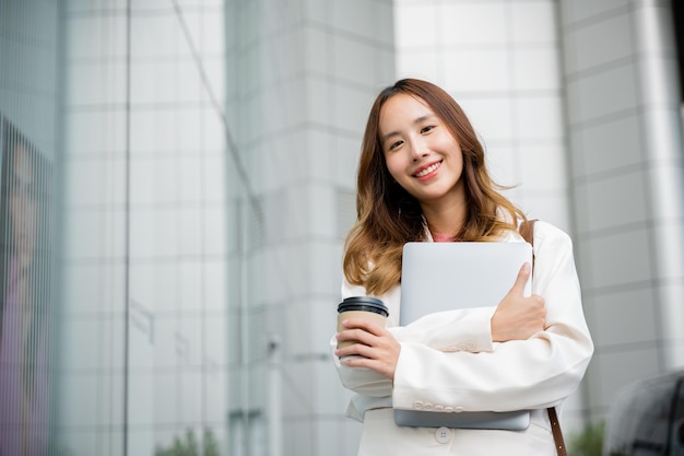
<instances>
[{"instance_id":1,"label":"white blazer sleeve from the right-hand shoulder, crossing the laptop's front","mask_svg":"<svg viewBox=\"0 0 684 456\"><path fill-rule=\"evenodd\" d=\"M491 352L444 352L401 342L394 408L509 411L559 404L578 386L593 353L569 236L538 222L533 293L544 297L547 327ZM425 327L424 330L429 330Z\"/></svg>"}]
</instances>

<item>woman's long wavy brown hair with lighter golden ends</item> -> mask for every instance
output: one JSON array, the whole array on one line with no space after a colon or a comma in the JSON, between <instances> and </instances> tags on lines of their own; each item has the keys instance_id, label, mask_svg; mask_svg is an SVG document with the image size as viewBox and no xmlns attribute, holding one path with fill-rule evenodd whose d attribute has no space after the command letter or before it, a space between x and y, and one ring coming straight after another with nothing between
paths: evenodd
<instances>
[{"instance_id":1,"label":"woman's long wavy brown hair with lighter golden ends","mask_svg":"<svg viewBox=\"0 0 684 456\"><path fill-rule=\"evenodd\" d=\"M506 230L526 220L520 209L498 192L505 189L487 172L484 149L459 104L439 86L403 79L384 89L368 115L358 162L356 223L344 245L346 280L379 295L401 281L401 256L408 242L426 241L421 204L390 175L380 143L380 113L385 103L408 94L426 103L456 138L463 154L461 179L465 188L465 222L456 241L497 241ZM502 218L504 210L510 217Z\"/></svg>"}]
</instances>

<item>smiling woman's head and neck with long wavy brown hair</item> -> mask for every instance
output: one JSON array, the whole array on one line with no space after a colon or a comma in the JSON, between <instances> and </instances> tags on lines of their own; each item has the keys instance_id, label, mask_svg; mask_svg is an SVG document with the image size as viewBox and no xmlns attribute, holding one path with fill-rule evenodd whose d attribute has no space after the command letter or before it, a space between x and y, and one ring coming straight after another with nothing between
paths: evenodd
<instances>
[{"instance_id":1,"label":"smiling woman's head and neck with long wavy brown hair","mask_svg":"<svg viewBox=\"0 0 684 456\"><path fill-rule=\"evenodd\" d=\"M433 144L435 137L439 144ZM428 145L436 149L413 151ZM405 165L409 169L400 172L402 152L404 161L414 157L406 154L424 156L417 167L411 163ZM446 179L440 176L417 182L415 176L403 175L421 173L425 166L434 166L435 160L440 163L445 154L449 156L448 175L456 182L455 188L443 188L450 197L443 201L424 192L418 199L412 191ZM436 232L459 241L494 241L506 230L516 230L516 221L524 220L522 211L497 191L486 168L484 149L465 113L448 93L425 81L399 81L376 98L363 139L356 185L357 222L347 238L344 270L352 283L364 283L373 293L386 292L399 281L403 244L423 241L425 222L437 224ZM460 192L468 204L457 202ZM443 220L438 208L448 209L455 222ZM431 211L434 217L426 217ZM502 211L506 218L499 217ZM375 267L367 270L370 258Z\"/></svg>"}]
</instances>

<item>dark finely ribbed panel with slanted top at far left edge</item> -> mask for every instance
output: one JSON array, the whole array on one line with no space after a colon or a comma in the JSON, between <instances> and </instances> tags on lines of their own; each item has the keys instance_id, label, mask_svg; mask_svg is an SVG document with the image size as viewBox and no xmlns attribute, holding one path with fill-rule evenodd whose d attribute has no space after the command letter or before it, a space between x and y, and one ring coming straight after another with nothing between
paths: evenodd
<instances>
[{"instance_id":1,"label":"dark finely ribbed panel with slanted top at far left edge","mask_svg":"<svg viewBox=\"0 0 684 456\"><path fill-rule=\"evenodd\" d=\"M49 261L43 227L49 172L16 128L0 125L0 456L45 455Z\"/></svg>"}]
</instances>

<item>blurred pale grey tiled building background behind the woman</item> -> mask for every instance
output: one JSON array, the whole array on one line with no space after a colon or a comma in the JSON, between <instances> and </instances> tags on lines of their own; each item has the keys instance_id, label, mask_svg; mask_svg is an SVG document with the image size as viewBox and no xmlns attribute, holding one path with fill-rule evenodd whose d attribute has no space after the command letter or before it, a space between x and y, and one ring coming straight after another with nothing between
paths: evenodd
<instances>
[{"instance_id":1,"label":"blurred pale grey tiled building background behind the woman","mask_svg":"<svg viewBox=\"0 0 684 456\"><path fill-rule=\"evenodd\" d=\"M0 454L354 455L328 351L366 114L447 89L575 241L567 433L684 366L681 2L0 0Z\"/></svg>"}]
</instances>

